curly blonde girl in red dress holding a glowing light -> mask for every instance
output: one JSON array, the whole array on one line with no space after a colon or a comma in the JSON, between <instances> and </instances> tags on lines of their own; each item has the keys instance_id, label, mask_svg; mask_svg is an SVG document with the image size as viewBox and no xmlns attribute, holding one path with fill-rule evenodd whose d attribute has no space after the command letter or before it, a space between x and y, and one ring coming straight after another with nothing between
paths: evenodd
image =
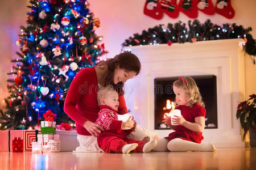
<instances>
[{"instance_id":1,"label":"curly blonde girl in red dress holding a glowing light","mask_svg":"<svg viewBox=\"0 0 256 170\"><path fill-rule=\"evenodd\" d=\"M168 137L158 140L154 151L215 151L210 143L201 143L205 127L204 102L196 85L190 76L179 78L173 84L176 95L175 102L181 111L181 116L163 118L163 122L175 130ZM174 124L171 125L171 119Z\"/></svg>"}]
</instances>

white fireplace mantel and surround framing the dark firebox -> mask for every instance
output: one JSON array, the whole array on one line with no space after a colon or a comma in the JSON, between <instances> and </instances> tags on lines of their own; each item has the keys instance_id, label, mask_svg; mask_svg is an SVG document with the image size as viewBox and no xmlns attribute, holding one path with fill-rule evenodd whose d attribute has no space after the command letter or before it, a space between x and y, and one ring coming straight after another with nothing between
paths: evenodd
<instances>
[{"instance_id":1,"label":"white fireplace mantel and surround framing the dark firebox","mask_svg":"<svg viewBox=\"0 0 256 170\"><path fill-rule=\"evenodd\" d=\"M138 125L160 138L171 130L154 129L154 78L185 75L216 75L218 129L205 129L203 142L217 147L243 147L239 101L245 99L245 55L242 39L200 41L184 44L131 46L141 61L141 73L126 82L125 97Z\"/></svg>"}]
</instances>

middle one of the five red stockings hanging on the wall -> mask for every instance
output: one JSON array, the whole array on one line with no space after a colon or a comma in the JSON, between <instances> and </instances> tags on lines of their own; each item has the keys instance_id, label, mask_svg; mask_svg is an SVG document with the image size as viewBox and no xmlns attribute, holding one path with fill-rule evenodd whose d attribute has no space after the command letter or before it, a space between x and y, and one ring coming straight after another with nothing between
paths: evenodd
<instances>
[{"instance_id":1,"label":"middle one of the five red stockings hanging on the wall","mask_svg":"<svg viewBox=\"0 0 256 170\"><path fill-rule=\"evenodd\" d=\"M189 18L197 18L198 16L197 0L180 0L177 8Z\"/></svg>"}]
</instances>

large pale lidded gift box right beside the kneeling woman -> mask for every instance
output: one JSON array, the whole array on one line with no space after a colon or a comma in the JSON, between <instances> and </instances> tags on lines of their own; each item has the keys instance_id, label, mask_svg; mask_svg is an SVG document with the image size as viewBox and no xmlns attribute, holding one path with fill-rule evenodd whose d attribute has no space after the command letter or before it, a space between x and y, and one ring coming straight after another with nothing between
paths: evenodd
<instances>
[{"instance_id":1,"label":"large pale lidded gift box right beside the kneeling woman","mask_svg":"<svg viewBox=\"0 0 256 170\"><path fill-rule=\"evenodd\" d=\"M79 146L76 130L55 130L55 133L60 135L61 152L70 152Z\"/></svg>"}]
</instances>

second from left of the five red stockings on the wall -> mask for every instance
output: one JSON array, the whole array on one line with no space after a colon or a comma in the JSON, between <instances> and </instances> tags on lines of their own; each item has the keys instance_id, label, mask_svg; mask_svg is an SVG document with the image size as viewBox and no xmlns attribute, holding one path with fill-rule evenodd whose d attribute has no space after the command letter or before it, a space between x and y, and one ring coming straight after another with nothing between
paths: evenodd
<instances>
[{"instance_id":1,"label":"second from left of the five red stockings on the wall","mask_svg":"<svg viewBox=\"0 0 256 170\"><path fill-rule=\"evenodd\" d=\"M160 0L161 10L171 18L177 18L179 10L176 8L176 0Z\"/></svg>"}]
</instances>

